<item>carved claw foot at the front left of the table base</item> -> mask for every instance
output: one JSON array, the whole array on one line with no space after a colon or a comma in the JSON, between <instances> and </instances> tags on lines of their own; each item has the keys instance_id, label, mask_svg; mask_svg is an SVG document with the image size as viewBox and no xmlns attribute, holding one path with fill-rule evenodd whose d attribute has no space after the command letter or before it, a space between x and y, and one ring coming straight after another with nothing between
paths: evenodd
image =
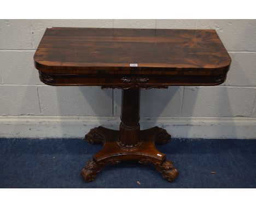
<instances>
[{"instance_id":1,"label":"carved claw foot at the front left of the table base","mask_svg":"<svg viewBox=\"0 0 256 208\"><path fill-rule=\"evenodd\" d=\"M102 167L94 161L88 161L86 166L82 169L80 175L86 182L93 181L96 178L97 172L99 172Z\"/></svg>"}]
</instances>

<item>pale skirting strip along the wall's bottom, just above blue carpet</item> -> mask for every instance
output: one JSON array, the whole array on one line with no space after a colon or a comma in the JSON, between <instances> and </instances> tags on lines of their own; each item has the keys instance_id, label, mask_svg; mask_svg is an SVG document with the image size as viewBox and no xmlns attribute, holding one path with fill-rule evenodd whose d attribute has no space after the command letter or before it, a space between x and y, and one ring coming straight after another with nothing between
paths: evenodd
<instances>
[{"instance_id":1,"label":"pale skirting strip along the wall's bottom, just above blue carpet","mask_svg":"<svg viewBox=\"0 0 256 208\"><path fill-rule=\"evenodd\" d=\"M141 129L159 126L172 138L256 139L256 118L141 117ZM90 129L118 130L119 117L0 116L0 138L84 138Z\"/></svg>"}]
</instances>

